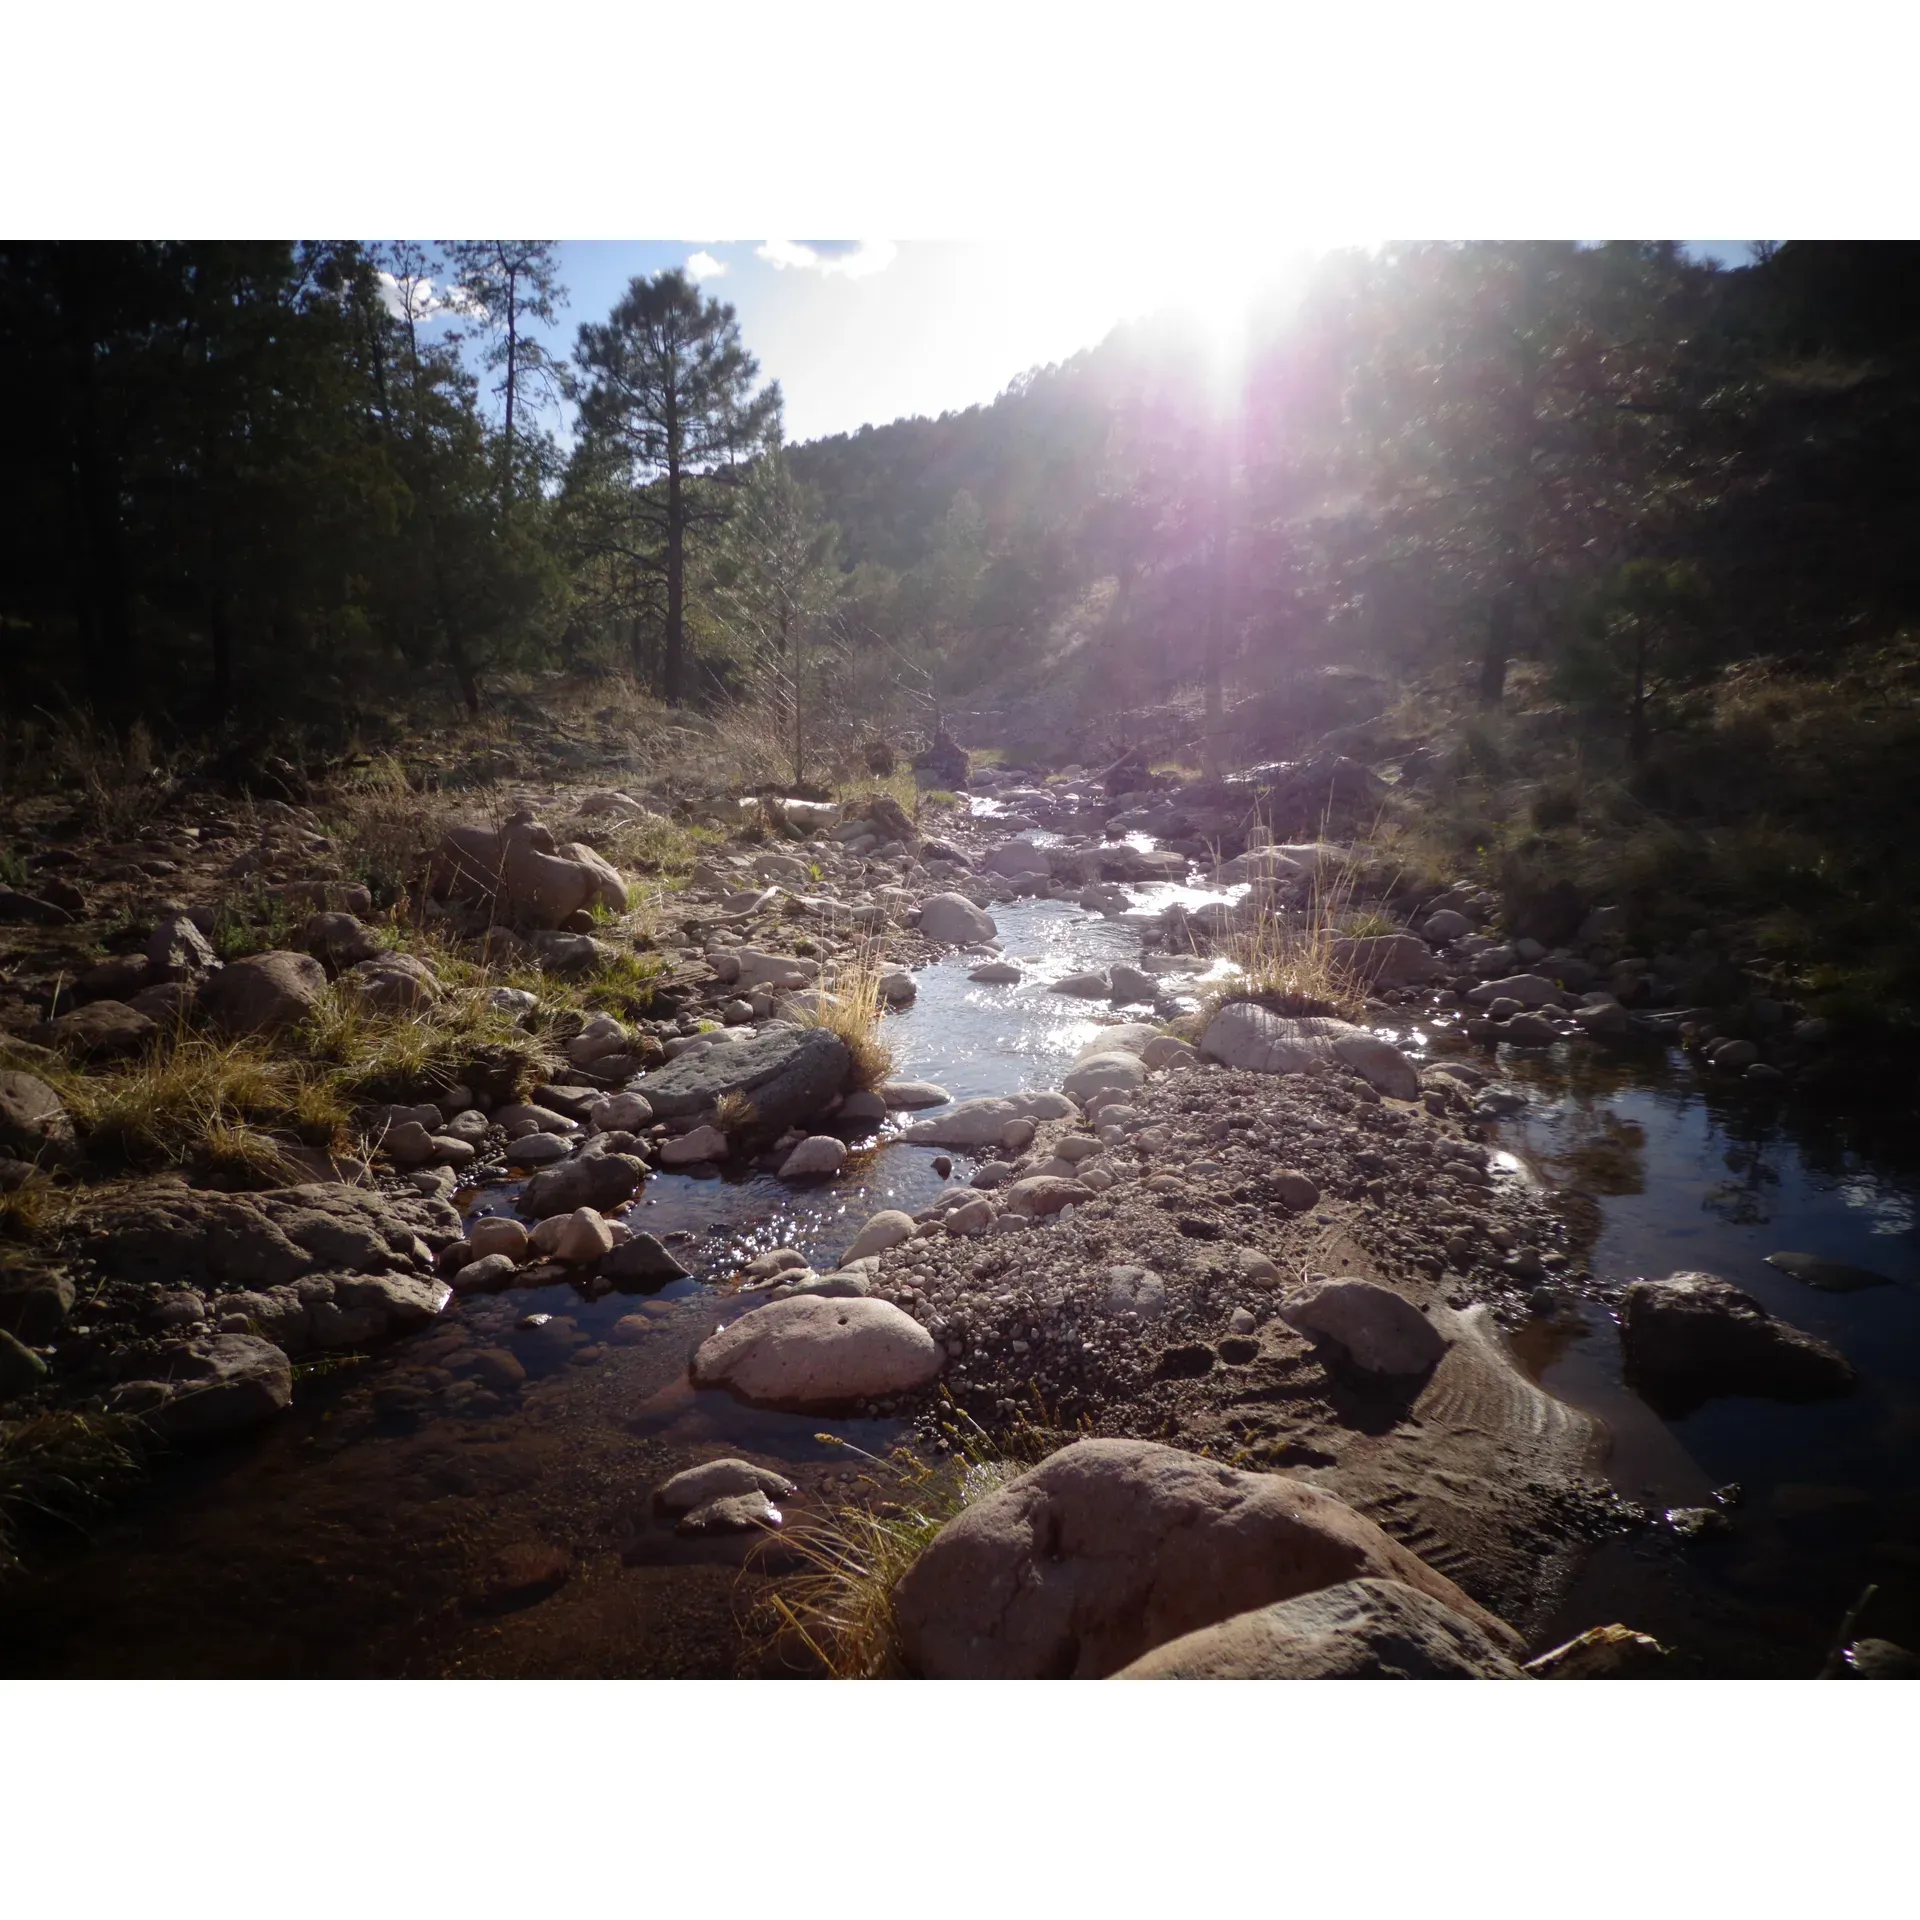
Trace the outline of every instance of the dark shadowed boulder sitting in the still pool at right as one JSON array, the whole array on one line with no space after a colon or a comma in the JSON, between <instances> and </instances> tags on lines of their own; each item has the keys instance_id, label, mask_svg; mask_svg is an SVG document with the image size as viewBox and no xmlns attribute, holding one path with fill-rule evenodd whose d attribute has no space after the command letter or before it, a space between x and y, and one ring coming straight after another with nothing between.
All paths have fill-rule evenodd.
<instances>
[{"instance_id":1,"label":"dark shadowed boulder sitting in the still pool at right","mask_svg":"<svg viewBox=\"0 0 1920 1920\"><path fill-rule=\"evenodd\" d=\"M1634 1281L1622 1300L1620 1348L1628 1380L1674 1415L1720 1394L1822 1400L1857 1379L1824 1340L1774 1319L1713 1273Z\"/></svg>"}]
</instances>

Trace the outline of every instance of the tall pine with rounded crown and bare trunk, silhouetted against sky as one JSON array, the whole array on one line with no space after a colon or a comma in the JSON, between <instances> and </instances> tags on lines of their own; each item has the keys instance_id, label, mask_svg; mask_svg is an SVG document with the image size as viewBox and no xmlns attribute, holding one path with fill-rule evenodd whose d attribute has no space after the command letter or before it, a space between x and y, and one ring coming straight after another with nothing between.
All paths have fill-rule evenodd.
<instances>
[{"instance_id":1,"label":"tall pine with rounded crown and bare trunk, silhouetted against sky","mask_svg":"<svg viewBox=\"0 0 1920 1920\"><path fill-rule=\"evenodd\" d=\"M636 509L660 536L666 626L660 693L685 695L687 534L726 518L716 480L780 424L780 386L758 394L760 363L739 344L733 309L703 300L678 269L636 278L603 326L574 348L582 428L636 488Z\"/></svg>"}]
</instances>

